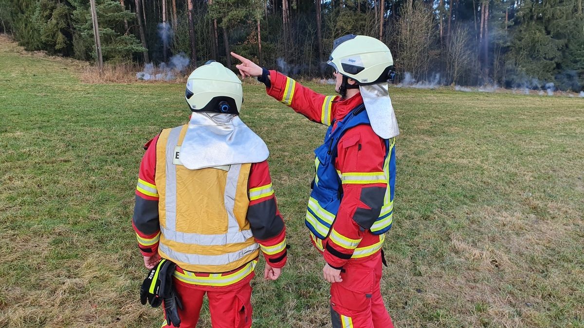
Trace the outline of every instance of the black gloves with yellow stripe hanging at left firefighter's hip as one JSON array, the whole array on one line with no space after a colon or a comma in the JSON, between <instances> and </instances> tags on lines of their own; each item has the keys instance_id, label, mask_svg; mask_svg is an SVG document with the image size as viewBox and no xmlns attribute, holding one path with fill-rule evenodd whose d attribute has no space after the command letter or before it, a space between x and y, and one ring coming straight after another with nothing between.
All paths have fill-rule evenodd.
<instances>
[{"instance_id":1,"label":"black gloves with yellow stripe hanging at left firefighter's hip","mask_svg":"<svg viewBox=\"0 0 584 328\"><path fill-rule=\"evenodd\" d=\"M162 259L157 266L152 268L144 282L142 282L140 302L145 305L146 301L148 301L152 308L158 308L164 301L166 323L180 327L177 307L182 310L183 306L175 287L172 285L172 273L175 268L176 264L166 259Z\"/></svg>"}]
</instances>

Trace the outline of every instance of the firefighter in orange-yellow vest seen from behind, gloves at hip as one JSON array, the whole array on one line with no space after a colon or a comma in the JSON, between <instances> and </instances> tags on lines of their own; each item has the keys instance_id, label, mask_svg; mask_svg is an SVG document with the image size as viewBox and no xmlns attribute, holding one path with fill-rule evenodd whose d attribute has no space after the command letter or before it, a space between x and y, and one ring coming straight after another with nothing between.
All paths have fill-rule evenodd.
<instances>
[{"instance_id":1,"label":"firefighter in orange-yellow vest seen from behind, gloves at hip","mask_svg":"<svg viewBox=\"0 0 584 328\"><path fill-rule=\"evenodd\" d=\"M195 69L185 98L189 123L149 141L140 165L132 224L152 269L142 303L164 299L162 327L196 327L207 294L213 327L251 327L260 252L266 280L286 264L269 152L239 118L241 81L220 63Z\"/></svg>"}]
</instances>

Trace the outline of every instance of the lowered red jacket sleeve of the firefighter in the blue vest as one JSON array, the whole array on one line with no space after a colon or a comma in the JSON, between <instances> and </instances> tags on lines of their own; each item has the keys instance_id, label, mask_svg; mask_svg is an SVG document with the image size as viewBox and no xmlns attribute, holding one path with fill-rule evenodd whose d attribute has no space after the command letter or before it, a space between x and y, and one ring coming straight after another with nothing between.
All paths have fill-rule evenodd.
<instances>
[{"instance_id":1,"label":"lowered red jacket sleeve of the firefighter in the blue vest","mask_svg":"<svg viewBox=\"0 0 584 328\"><path fill-rule=\"evenodd\" d=\"M351 128L339 141L336 168L343 198L324 250L331 267L339 269L353 256L379 217L387 189L384 158L385 143L369 125Z\"/></svg>"}]
</instances>

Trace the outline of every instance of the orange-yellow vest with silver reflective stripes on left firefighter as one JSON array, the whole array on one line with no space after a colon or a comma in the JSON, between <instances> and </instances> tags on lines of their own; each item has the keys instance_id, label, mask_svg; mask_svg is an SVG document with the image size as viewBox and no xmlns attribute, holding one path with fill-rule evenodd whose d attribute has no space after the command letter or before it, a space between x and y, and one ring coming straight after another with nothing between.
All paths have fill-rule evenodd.
<instances>
[{"instance_id":1,"label":"orange-yellow vest with silver reflective stripes on left firefighter","mask_svg":"<svg viewBox=\"0 0 584 328\"><path fill-rule=\"evenodd\" d=\"M251 164L185 168L178 155L187 127L162 130L156 145L159 253L188 271L231 271L259 255L246 219Z\"/></svg>"}]
</instances>

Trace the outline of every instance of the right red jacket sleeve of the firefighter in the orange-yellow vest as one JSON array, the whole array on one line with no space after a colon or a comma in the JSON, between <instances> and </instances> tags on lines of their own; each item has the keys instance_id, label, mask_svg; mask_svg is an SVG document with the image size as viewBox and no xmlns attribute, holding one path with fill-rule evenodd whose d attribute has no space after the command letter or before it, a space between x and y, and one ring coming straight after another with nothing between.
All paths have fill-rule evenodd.
<instances>
[{"instance_id":1,"label":"right red jacket sleeve of the firefighter in the orange-yellow vest","mask_svg":"<svg viewBox=\"0 0 584 328\"><path fill-rule=\"evenodd\" d=\"M267 161L253 163L248 181L248 221L266 262L274 268L286 264L286 227L278 210Z\"/></svg>"}]
</instances>

